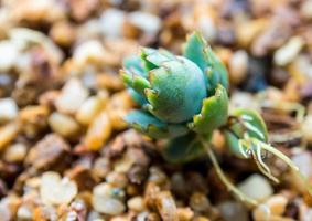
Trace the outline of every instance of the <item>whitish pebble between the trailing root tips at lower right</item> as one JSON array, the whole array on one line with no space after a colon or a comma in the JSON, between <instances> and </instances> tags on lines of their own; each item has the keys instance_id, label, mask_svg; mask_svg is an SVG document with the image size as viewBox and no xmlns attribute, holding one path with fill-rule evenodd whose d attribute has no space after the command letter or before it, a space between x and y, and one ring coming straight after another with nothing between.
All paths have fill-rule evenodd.
<instances>
[{"instance_id":1,"label":"whitish pebble between the trailing root tips at lower right","mask_svg":"<svg viewBox=\"0 0 312 221\"><path fill-rule=\"evenodd\" d=\"M273 193L270 182L260 175L251 175L240 182L238 188L241 192L258 201L266 200Z\"/></svg>"}]
</instances>

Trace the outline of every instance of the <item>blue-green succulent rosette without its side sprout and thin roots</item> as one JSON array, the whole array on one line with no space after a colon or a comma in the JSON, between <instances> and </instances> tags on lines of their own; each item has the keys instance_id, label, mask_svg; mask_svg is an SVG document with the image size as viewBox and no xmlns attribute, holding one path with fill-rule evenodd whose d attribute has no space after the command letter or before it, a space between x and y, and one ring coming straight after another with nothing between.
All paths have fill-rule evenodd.
<instances>
[{"instance_id":1,"label":"blue-green succulent rosette without its side sprout and thin roots","mask_svg":"<svg viewBox=\"0 0 312 221\"><path fill-rule=\"evenodd\" d=\"M126 122L151 138L170 138L163 150L170 161L198 157L203 148L195 137L208 139L227 120L226 69L197 32L187 36L181 56L141 49L125 61L121 75L140 106Z\"/></svg>"}]
</instances>

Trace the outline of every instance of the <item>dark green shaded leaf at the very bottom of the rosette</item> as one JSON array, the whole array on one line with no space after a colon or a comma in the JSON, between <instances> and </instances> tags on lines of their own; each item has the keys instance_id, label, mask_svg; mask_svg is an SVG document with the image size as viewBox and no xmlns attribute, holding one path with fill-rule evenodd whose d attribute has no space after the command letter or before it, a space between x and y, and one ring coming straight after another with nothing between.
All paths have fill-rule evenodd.
<instances>
[{"instance_id":1,"label":"dark green shaded leaf at the very bottom of the rosette","mask_svg":"<svg viewBox=\"0 0 312 221\"><path fill-rule=\"evenodd\" d=\"M204 156L205 148L194 133L171 139L162 149L164 159L173 164L192 161Z\"/></svg>"}]
</instances>

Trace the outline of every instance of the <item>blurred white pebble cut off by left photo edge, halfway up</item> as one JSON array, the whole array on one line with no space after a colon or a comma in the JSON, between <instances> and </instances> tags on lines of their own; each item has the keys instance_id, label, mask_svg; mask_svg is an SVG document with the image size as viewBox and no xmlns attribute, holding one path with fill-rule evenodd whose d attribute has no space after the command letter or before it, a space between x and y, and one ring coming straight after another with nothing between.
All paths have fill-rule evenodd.
<instances>
[{"instance_id":1,"label":"blurred white pebble cut off by left photo edge, halfway up","mask_svg":"<svg viewBox=\"0 0 312 221\"><path fill-rule=\"evenodd\" d=\"M0 124L14 119L18 116L18 112L19 108L14 99L12 98L0 99Z\"/></svg>"}]
</instances>

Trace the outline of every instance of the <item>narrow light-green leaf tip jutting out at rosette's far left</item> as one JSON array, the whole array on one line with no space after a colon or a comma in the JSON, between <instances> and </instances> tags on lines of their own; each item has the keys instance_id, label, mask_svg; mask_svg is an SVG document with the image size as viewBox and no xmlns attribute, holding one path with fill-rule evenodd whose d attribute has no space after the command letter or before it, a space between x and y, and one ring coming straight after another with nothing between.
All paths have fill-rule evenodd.
<instances>
[{"instance_id":1,"label":"narrow light-green leaf tip jutting out at rosette's far left","mask_svg":"<svg viewBox=\"0 0 312 221\"><path fill-rule=\"evenodd\" d=\"M125 84L127 84L128 87L133 88L136 92L138 92L141 95L144 95L146 88L151 87L150 82L141 75L131 73L127 70L121 70L120 73Z\"/></svg>"}]
</instances>

